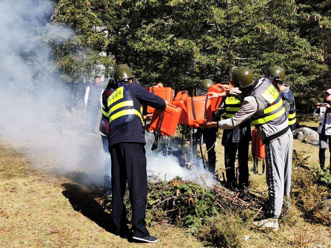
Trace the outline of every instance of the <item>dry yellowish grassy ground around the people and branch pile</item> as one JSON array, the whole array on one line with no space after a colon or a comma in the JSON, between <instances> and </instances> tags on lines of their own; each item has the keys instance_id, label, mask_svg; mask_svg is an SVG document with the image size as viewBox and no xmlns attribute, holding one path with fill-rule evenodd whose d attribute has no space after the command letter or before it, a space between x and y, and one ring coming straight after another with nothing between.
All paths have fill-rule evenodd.
<instances>
[{"instance_id":1,"label":"dry yellowish grassy ground around the people and branch pile","mask_svg":"<svg viewBox=\"0 0 331 248\"><path fill-rule=\"evenodd\" d=\"M300 120L301 126L317 126L309 118ZM216 169L224 171L224 151L217 142ZM309 156L310 166L317 166L318 147L295 140L294 149ZM53 156L49 154L49 159ZM168 224L149 227L159 238L155 244L113 236L110 213L102 207L102 188L88 180L94 176L76 168L62 174L46 172L41 158L18 152L8 140L0 141L0 247L209 247L184 228ZM250 171L250 188L266 191L265 176ZM330 227L307 222L295 207L280 224L278 232L245 226L242 235L249 238L242 247L293 247L300 243L298 233L301 241L308 240L306 247L331 247Z\"/></svg>"}]
</instances>

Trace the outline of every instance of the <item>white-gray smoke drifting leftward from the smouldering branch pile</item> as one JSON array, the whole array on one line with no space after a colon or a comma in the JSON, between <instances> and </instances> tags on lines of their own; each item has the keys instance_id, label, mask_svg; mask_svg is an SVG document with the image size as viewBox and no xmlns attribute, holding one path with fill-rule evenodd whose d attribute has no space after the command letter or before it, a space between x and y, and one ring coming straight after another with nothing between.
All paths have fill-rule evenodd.
<instances>
[{"instance_id":1,"label":"white-gray smoke drifting leftward from the smouldering branch pile","mask_svg":"<svg viewBox=\"0 0 331 248\"><path fill-rule=\"evenodd\" d=\"M35 166L68 173L87 171L103 185L100 135L84 134L86 111L79 103L68 111L68 88L53 60L52 43L63 43L74 32L50 20L53 3L45 0L0 2L0 135L1 139L36 159ZM69 96L70 98L70 96ZM99 120L100 120L99 114ZM98 123L98 122L97 122ZM150 175L170 180L180 176L201 184L214 181L201 166L189 171L175 157L152 152L146 145ZM203 177L201 175L204 175Z\"/></svg>"}]
</instances>

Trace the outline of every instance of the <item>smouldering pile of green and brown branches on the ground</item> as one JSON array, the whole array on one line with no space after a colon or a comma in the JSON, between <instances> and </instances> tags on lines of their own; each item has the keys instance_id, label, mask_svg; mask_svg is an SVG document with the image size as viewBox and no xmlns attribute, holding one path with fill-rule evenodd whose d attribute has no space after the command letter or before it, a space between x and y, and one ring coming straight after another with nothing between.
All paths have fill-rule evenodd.
<instances>
[{"instance_id":1,"label":"smouldering pile of green and brown branches on the ground","mask_svg":"<svg viewBox=\"0 0 331 248\"><path fill-rule=\"evenodd\" d=\"M256 197L257 198L257 197ZM170 182L157 181L148 183L146 222L171 223L180 227L192 227L203 220L219 213L242 213L259 211L261 197L254 199L251 194L233 192L221 185L213 187L201 186L195 182L175 178ZM129 197L124 197L130 209ZM110 202L106 208L110 210ZM131 215L130 211L128 214ZM131 216L128 216L130 219Z\"/></svg>"}]
</instances>

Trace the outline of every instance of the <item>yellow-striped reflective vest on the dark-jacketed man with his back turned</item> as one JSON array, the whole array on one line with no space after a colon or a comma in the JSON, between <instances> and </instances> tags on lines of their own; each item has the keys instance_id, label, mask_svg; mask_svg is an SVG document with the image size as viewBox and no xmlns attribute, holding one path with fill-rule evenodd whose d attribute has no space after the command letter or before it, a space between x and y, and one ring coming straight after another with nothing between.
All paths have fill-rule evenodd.
<instances>
[{"instance_id":1,"label":"yellow-striped reflective vest on the dark-jacketed man with his back turned","mask_svg":"<svg viewBox=\"0 0 331 248\"><path fill-rule=\"evenodd\" d=\"M138 116L143 121L140 106L133 103L129 84L118 83L118 88L108 98L109 129L132 121Z\"/></svg>"}]
</instances>

